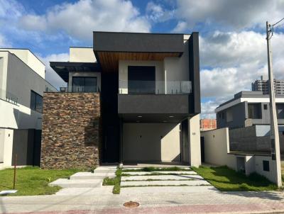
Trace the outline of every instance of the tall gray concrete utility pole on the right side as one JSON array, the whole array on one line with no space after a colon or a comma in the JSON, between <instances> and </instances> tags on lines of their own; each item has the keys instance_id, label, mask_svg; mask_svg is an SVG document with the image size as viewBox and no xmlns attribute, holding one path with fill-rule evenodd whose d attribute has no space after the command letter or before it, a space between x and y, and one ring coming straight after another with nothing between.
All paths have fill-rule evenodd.
<instances>
[{"instance_id":1,"label":"tall gray concrete utility pole on the right side","mask_svg":"<svg viewBox=\"0 0 284 214\"><path fill-rule=\"evenodd\" d=\"M282 186L281 180L281 162L280 162L280 146L279 146L279 133L278 121L276 115L275 93L274 93L274 78L272 69L272 51L271 51L271 38L272 26L266 21L266 41L267 41L267 58L268 58L268 82L269 82L269 98L270 98L270 111L271 111L271 159L273 164L273 174L275 184L278 187Z\"/></svg>"}]
</instances>

